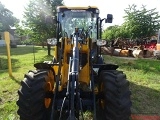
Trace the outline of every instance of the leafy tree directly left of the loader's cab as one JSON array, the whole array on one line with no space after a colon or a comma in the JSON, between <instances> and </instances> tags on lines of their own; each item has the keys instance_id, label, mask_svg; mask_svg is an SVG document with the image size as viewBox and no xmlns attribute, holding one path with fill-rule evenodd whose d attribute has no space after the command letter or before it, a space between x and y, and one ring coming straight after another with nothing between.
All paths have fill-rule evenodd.
<instances>
[{"instance_id":1,"label":"leafy tree directly left of the loader's cab","mask_svg":"<svg viewBox=\"0 0 160 120\"><path fill-rule=\"evenodd\" d=\"M56 16L56 6L62 5L62 0L31 0L25 8L25 27L28 27L30 37L36 42L44 43L47 38L55 37L56 23L53 22ZM52 24L48 18L52 17Z\"/></svg>"}]
</instances>

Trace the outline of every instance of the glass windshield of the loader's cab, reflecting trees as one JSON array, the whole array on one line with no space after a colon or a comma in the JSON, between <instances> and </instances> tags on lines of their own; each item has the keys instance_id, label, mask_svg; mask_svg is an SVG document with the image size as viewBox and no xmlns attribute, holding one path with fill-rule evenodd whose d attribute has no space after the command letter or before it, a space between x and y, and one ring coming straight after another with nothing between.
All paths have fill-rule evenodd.
<instances>
[{"instance_id":1,"label":"glass windshield of the loader's cab, reflecting trees","mask_svg":"<svg viewBox=\"0 0 160 120\"><path fill-rule=\"evenodd\" d=\"M97 38L97 15L86 10L71 10L59 13L59 22L61 23L62 36L70 36L74 33L75 28L83 29L90 32L92 39ZM91 28L91 29L90 29Z\"/></svg>"}]
</instances>

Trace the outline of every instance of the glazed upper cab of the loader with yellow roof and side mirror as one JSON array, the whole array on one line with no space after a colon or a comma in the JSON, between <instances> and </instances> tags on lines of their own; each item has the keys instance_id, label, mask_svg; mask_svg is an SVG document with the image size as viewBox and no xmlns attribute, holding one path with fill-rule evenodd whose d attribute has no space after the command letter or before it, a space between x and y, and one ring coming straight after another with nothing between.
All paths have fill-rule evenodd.
<instances>
[{"instance_id":1,"label":"glazed upper cab of the loader with yellow roof and side mirror","mask_svg":"<svg viewBox=\"0 0 160 120\"><path fill-rule=\"evenodd\" d=\"M112 15L108 14L105 22L112 22ZM84 38L92 40L100 39L102 20L99 17L99 9L95 6L88 7L57 7L58 35L71 38L75 28L81 30ZM81 35L82 35L81 34Z\"/></svg>"}]
</instances>

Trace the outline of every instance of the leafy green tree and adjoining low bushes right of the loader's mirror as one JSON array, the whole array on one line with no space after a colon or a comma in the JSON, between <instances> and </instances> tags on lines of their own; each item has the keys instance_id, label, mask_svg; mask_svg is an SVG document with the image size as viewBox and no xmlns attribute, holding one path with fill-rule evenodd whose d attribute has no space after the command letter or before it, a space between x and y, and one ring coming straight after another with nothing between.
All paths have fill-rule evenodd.
<instances>
[{"instance_id":1,"label":"leafy green tree and adjoining low bushes right of the loader's mirror","mask_svg":"<svg viewBox=\"0 0 160 120\"><path fill-rule=\"evenodd\" d=\"M147 10L146 6L142 5L138 10L136 5L129 5L124 11L125 22L121 26L111 26L107 28L103 37L106 39L115 38L147 38L155 35L160 29L160 16L155 12L156 8Z\"/></svg>"}]
</instances>

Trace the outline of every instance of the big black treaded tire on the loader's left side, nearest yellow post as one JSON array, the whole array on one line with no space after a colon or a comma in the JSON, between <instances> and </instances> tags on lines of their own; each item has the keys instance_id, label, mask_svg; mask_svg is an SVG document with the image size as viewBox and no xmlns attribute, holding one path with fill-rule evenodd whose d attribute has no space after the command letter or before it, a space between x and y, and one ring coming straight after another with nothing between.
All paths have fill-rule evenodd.
<instances>
[{"instance_id":1,"label":"big black treaded tire on the loader's left side, nearest yellow post","mask_svg":"<svg viewBox=\"0 0 160 120\"><path fill-rule=\"evenodd\" d=\"M48 70L29 71L28 74L25 74L24 80L21 82L21 88L18 90L19 100L17 105L19 109L17 113L20 116L20 120L49 119L52 99L50 106L46 108L46 85L48 79L53 78L53 76L49 76Z\"/></svg>"}]
</instances>

